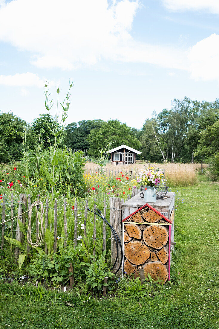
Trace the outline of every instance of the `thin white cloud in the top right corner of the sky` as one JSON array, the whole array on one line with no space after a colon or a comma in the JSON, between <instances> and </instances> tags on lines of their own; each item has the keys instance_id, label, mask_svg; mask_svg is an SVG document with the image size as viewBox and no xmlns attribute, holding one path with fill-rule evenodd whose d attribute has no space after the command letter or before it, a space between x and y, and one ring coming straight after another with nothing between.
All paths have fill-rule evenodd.
<instances>
[{"instance_id":1,"label":"thin white cloud in the top right corner of the sky","mask_svg":"<svg viewBox=\"0 0 219 329\"><path fill-rule=\"evenodd\" d=\"M219 14L218 0L161 0L164 6L171 11L182 10L207 10Z\"/></svg>"}]
</instances>

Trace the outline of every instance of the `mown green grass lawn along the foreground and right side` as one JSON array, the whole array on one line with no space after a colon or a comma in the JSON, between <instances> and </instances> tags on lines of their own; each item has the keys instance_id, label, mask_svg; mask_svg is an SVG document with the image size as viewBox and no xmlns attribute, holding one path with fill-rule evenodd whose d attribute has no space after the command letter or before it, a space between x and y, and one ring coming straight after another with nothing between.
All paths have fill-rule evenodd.
<instances>
[{"instance_id":1,"label":"mown green grass lawn along the foreground and right side","mask_svg":"<svg viewBox=\"0 0 219 329\"><path fill-rule=\"evenodd\" d=\"M176 192L176 281L152 296L128 300L117 294L82 302L74 292L55 295L0 285L0 328L219 328L219 184L199 176L199 185ZM179 272L179 275L178 275ZM69 300L74 307L66 306Z\"/></svg>"}]
</instances>

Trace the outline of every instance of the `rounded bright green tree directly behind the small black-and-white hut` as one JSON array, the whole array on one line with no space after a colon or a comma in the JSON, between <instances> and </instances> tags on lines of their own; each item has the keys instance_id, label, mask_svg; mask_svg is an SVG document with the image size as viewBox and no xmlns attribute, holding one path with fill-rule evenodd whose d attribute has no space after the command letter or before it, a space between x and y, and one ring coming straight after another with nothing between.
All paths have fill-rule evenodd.
<instances>
[{"instance_id":1,"label":"rounded bright green tree directly behind the small black-and-white hut","mask_svg":"<svg viewBox=\"0 0 219 329\"><path fill-rule=\"evenodd\" d=\"M141 149L140 141L134 136L132 129L125 123L113 119L104 122L101 127L91 130L88 136L90 144L89 155L99 157L99 149L106 147L109 140L113 142L113 148L125 144L137 150Z\"/></svg>"}]
</instances>

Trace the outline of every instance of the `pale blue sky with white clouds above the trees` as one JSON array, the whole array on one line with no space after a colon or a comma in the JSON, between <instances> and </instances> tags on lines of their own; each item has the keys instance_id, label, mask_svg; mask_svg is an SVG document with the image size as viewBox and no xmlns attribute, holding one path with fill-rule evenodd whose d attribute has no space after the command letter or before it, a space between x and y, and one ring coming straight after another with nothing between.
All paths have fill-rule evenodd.
<instances>
[{"instance_id":1,"label":"pale blue sky with white clouds above the trees","mask_svg":"<svg viewBox=\"0 0 219 329\"><path fill-rule=\"evenodd\" d=\"M74 81L67 123L140 129L174 98L214 101L218 18L218 0L0 0L0 111L47 113L46 80L52 115Z\"/></svg>"}]
</instances>

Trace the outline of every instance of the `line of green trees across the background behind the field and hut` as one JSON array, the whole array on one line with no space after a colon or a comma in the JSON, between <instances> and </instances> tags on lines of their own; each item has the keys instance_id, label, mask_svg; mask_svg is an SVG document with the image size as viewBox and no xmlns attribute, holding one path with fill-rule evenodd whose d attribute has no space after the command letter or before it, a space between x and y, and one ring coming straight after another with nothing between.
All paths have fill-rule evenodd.
<instances>
[{"instance_id":1,"label":"line of green trees across the background behind the field and hut","mask_svg":"<svg viewBox=\"0 0 219 329\"><path fill-rule=\"evenodd\" d=\"M49 147L54 136L48 126L55 120L49 114L40 114L31 125L12 113L0 113L0 159L9 162L22 155L22 140L30 148L39 134L43 147ZM82 120L66 125L61 147L84 150L90 157L99 156L99 148L109 140L113 147L129 145L148 161L194 162L208 161L219 152L219 99L199 102L185 97L174 99L170 109L155 112L142 122L142 129L128 127L113 119Z\"/></svg>"}]
</instances>

